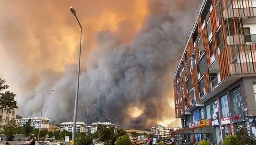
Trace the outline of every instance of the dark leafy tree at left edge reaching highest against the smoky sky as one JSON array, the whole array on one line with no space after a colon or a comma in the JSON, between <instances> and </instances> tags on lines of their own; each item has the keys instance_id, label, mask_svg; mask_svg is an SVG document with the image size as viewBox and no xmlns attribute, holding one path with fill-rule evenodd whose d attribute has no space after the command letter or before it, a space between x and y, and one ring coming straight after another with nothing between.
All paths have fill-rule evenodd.
<instances>
[{"instance_id":1,"label":"dark leafy tree at left edge reaching highest against the smoky sky","mask_svg":"<svg viewBox=\"0 0 256 145\"><path fill-rule=\"evenodd\" d=\"M5 82L5 79L0 77L0 109L12 111L18 108L17 101L14 99L16 94L6 90L9 86ZM2 116L0 116L0 119L2 119Z\"/></svg>"}]
</instances>

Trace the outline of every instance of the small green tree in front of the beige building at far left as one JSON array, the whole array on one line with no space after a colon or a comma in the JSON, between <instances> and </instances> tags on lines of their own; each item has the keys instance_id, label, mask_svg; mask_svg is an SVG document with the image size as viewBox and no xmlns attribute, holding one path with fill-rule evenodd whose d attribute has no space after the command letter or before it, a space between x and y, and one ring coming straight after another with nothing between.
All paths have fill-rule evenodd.
<instances>
[{"instance_id":1,"label":"small green tree in front of the beige building at far left","mask_svg":"<svg viewBox=\"0 0 256 145\"><path fill-rule=\"evenodd\" d=\"M7 140L10 140L15 135L17 127L18 125L14 119L9 121L7 125L3 125L3 133L7 136Z\"/></svg>"}]
</instances>

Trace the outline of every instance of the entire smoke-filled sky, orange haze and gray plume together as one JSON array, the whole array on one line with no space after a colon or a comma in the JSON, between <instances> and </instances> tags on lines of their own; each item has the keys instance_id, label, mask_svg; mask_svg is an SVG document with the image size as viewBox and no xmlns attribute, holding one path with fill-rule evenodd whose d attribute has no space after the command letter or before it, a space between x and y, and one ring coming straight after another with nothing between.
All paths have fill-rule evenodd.
<instances>
[{"instance_id":1,"label":"entire smoke-filled sky, orange haze and gray plume together","mask_svg":"<svg viewBox=\"0 0 256 145\"><path fill-rule=\"evenodd\" d=\"M172 78L199 2L8 3L7 8L14 9L0 15L4 20L0 22L0 75L11 80L9 85L18 91L20 114L39 116L42 97L31 90L54 88L45 95L43 116L55 123L72 121L79 29L66 11L73 5L82 13L78 16L86 35L79 104L96 104L89 110L88 123L95 121L95 116L104 121L101 111L112 112L108 118L119 118L137 128L156 123L179 125L174 119ZM25 9L20 9L22 6ZM85 108L78 108L78 121L85 121L85 113Z\"/></svg>"}]
</instances>

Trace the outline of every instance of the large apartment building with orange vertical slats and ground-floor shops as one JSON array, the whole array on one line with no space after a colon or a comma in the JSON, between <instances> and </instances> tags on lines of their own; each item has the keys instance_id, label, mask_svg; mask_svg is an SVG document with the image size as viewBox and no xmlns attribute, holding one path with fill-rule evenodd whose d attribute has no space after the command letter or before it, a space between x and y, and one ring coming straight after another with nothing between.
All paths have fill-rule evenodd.
<instances>
[{"instance_id":1,"label":"large apartment building with orange vertical slats and ground-floor shops","mask_svg":"<svg viewBox=\"0 0 256 145\"><path fill-rule=\"evenodd\" d=\"M248 135L256 114L256 0L203 0L174 76L176 118L187 142Z\"/></svg>"}]
</instances>

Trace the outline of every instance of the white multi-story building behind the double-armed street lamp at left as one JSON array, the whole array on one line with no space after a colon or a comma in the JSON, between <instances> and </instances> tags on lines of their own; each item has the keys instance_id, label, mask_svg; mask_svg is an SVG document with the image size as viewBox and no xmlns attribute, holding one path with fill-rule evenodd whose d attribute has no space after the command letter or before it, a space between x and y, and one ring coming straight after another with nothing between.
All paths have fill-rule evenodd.
<instances>
[{"instance_id":1,"label":"white multi-story building behind the double-armed street lamp at left","mask_svg":"<svg viewBox=\"0 0 256 145\"><path fill-rule=\"evenodd\" d=\"M47 117L42 117L41 120L40 120L40 117L22 118L22 119L19 119L17 122L18 122L18 124L19 124L20 126L23 126L24 124L26 124L26 121L28 121L29 119L31 119L31 126L32 126L34 129L39 129L40 122L41 122L41 129L46 129L46 130L48 130L50 119L47 118Z\"/></svg>"}]
</instances>

